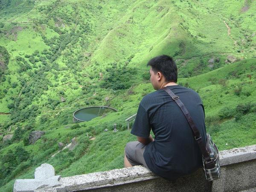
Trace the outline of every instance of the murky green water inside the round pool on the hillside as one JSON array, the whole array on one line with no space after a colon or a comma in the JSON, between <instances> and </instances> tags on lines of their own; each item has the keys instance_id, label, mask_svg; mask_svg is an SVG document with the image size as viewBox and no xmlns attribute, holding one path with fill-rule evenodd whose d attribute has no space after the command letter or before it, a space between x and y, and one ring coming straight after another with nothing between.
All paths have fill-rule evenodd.
<instances>
[{"instance_id":1,"label":"murky green water inside the round pool on the hillside","mask_svg":"<svg viewBox=\"0 0 256 192\"><path fill-rule=\"evenodd\" d=\"M91 119L102 116L105 113L113 111L110 108L105 107L92 107L92 108L84 108L74 113L76 119L81 121L90 121Z\"/></svg>"}]
</instances>

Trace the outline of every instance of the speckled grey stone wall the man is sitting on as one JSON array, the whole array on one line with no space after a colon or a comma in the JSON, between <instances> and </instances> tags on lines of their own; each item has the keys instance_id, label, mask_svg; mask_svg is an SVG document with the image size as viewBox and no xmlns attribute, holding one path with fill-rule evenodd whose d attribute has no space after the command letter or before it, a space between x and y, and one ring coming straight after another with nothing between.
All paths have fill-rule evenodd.
<instances>
[{"instance_id":1,"label":"speckled grey stone wall the man is sitting on","mask_svg":"<svg viewBox=\"0 0 256 192\"><path fill-rule=\"evenodd\" d=\"M24 187L20 188L21 186L26 186L27 181L31 184L31 180L16 180L14 192L256 191L256 145L220 151L220 163L221 179L213 182L205 180L202 169L199 169L192 175L180 177L170 182L154 175L144 166L134 166L63 178L51 175L55 181L49 182L50 179L46 178L47 182L41 182L41 186L38 186L37 183L34 190L31 190L31 187L29 190L25 190ZM45 166L45 164L43 165ZM45 175L45 172L43 171L42 174ZM38 171L35 177L38 177Z\"/></svg>"}]
</instances>

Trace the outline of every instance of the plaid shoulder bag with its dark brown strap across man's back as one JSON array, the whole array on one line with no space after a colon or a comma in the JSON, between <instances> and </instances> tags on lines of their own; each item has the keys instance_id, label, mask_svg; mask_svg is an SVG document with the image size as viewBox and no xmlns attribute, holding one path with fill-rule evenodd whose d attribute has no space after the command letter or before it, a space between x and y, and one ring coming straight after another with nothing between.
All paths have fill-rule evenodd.
<instances>
[{"instance_id":1,"label":"plaid shoulder bag with its dark brown strap across man's back","mask_svg":"<svg viewBox=\"0 0 256 192\"><path fill-rule=\"evenodd\" d=\"M184 116L186 117L189 126L194 134L195 140L198 143L198 146L202 152L202 159L203 159L203 169L204 169L204 175L208 181L212 181L215 179L220 178L220 163L219 163L219 153L218 148L213 143L212 138L209 134L206 134L206 145L204 145L203 139L200 135L200 132L198 131L198 128L195 126L195 123L183 104L183 102L180 101L179 96L176 96L172 90L170 90L167 87L163 87L163 90L165 90L172 99L177 103L177 105L180 107L181 111L183 112Z\"/></svg>"}]
</instances>

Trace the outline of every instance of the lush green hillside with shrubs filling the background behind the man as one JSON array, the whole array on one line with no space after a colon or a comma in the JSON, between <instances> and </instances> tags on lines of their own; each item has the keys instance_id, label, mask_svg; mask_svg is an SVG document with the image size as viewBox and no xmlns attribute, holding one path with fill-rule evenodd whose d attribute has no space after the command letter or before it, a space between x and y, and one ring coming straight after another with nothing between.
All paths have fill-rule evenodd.
<instances>
[{"instance_id":1,"label":"lush green hillside with shrubs filling the background behind the man","mask_svg":"<svg viewBox=\"0 0 256 192\"><path fill-rule=\"evenodd\" d=\"M0 0L0 191L42 163L62 177L121 168L136 139L125 119L154 91L146 64L156 55L174 57L178 84L199 93L220 150L256 144L255 9L253 0ZM96 105L118 112L73 122ZM35 130L45 134L29 144ZM73 150L51 157L73 137Z\"/></svg>"}]
</instances>

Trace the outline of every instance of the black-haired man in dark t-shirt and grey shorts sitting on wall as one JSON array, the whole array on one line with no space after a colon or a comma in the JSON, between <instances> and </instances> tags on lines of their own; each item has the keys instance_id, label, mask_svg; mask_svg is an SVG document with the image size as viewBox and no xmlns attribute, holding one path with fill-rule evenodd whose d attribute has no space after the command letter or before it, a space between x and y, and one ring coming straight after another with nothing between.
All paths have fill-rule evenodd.
<instances>
[{"instance_id":1,"label":"black-haired man in dark t-shirt and grey shorts sitting on wall","mask_svg":"<svg viewBox=\"0 0 256 192\"><path fill-rule=\"evenodd\" d=\"M162 88L168 87L180 97L205 143L204 106L198 93L176 84L177 66L171 57L160 55L147 65L156 91L140 102L131 130L137 141L125 146L124 165L144 165L155 174L173 180L201 167L202 154L183 112Z\"/></svg>"}]
</instances>

